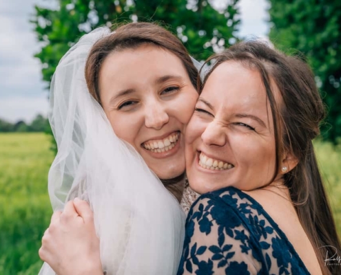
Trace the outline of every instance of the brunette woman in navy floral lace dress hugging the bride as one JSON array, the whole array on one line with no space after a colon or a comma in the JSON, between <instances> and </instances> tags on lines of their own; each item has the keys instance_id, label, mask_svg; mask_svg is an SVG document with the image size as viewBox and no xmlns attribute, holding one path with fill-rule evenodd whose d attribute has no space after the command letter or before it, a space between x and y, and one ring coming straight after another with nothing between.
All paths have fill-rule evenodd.
<instances>
[{"instance_id":1,"label":"brunette woman in navy floral lace dress hugging the bride","mask_svg":"<svg viewBox=\"0 0 341 275\"><path fill-rule=\"evenodd\" d=\"M178 274L341 274L313 149L324 104L308 65L257 41L210 61L186 131L187 177L203 195Z\"/></svg>"}]
</instances>

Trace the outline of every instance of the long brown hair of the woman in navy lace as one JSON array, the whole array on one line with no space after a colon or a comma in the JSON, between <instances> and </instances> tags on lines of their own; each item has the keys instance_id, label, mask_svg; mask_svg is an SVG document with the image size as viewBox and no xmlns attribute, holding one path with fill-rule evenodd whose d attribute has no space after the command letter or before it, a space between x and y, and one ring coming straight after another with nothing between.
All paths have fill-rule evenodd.
<instances>
[{"instance_id":1,"label":"long brown hair of the woman in navy lace","mask_svg":"<svg viewBox=\"0 0 341 275\"><path fill-rule=\"evenodd\" d=\"M199 91L202 91L209 74L225 61L237 61L260 73L275 129L276 170L273 179L278 173L282 153L289 152L298 159L297 166L283 175L285 186L289 188L322 273L341 274L340 266L325 267L323 261L327 252L330 256L335 254L329 245L338 251L341 251L341 245L313 149L312 140L319 134L325 112L311 69L296 56L286 56L260 41L247 41L209 58L207 62L214 64ZM282 96L279 105L273 96L270 80L276 83Z\"/></svg>"}]
</instances>

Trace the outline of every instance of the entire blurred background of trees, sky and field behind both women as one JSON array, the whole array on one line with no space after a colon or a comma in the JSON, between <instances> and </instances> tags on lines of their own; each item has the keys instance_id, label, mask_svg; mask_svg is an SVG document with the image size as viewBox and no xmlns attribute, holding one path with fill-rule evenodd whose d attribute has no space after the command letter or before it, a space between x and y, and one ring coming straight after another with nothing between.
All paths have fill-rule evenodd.
<instances>
[{"instance_id":1,"label":"entire blurred background of trees, sky and field behind both women","mask_svg":"<svg viewBox=\"0 0 341 275\"><path fill-rule=\"evenodd\" d=\"M328 109L314 145L341 233L341 1L0 0L0 274L37 274L42 264L59 59L99 25L129 21L163 23L200 61L254 37L305 56Z\"/></svg>"}]
</instances>

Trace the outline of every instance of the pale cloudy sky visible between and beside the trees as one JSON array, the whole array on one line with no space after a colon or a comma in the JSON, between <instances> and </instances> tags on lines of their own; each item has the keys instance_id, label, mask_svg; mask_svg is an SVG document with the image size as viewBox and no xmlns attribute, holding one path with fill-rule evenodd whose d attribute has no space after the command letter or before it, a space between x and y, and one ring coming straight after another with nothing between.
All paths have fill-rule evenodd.
<instances>
[{"instance_id":1,"label":"pale cloudy sky visible between and beside the trees","mask_svg":"<svg viewBox=\"0 0 341 275\"><path fill-rule=\"evenodd\" d=\"M40 45L30 17L34 4L47 0L0 0L0 118L30 122L48 113L48 90L41 76L41 63L34 54ZM223 2L225 0L218 0ZM266 0L240 0L238 36L267 38Z\"/></svg>"}]
</instances>

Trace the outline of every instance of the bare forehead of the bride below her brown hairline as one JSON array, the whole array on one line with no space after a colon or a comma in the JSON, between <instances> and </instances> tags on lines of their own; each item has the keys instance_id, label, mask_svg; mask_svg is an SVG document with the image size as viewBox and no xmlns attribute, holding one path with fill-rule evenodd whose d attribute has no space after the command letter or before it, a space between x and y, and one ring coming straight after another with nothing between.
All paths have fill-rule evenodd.
<instances>
[{"instance_id":1,"label":"bare forehead of the bride below her brown hairline","mask_svg":"<svg viewBox=\"0 0 341 275\"><path fill-rule=\"evenodd\" d=\"M178 56L156 45L143 44L134 49L112 52L105 58L100 71L102 80L150 78L158 74L187 74Z\"/></svg>"}]
</instances>

